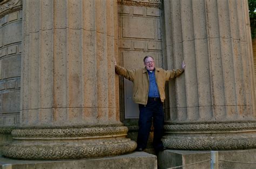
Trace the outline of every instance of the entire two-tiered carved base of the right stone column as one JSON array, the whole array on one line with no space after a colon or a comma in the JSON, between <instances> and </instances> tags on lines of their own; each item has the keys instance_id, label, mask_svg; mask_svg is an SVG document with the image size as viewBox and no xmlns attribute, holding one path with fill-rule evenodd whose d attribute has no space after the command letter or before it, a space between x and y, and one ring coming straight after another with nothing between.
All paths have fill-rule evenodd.
<instances>
[{"instance_id":1,"label":"entire two-tiered carved base of the right stone column","mask_svg":"<svg viewBox=\"0 0 256 169\"><path fill-rule=\"evenodd\" d=\"M179 150L237 150L256 148L256 123L165 125L163 143Z\"/></svg>"}]
</instances>

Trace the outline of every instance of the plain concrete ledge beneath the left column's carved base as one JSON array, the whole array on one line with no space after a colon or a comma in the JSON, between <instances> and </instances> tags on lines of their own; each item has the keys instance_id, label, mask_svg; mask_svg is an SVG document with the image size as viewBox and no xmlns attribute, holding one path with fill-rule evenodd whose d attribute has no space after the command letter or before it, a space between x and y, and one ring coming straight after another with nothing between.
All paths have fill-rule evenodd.
<instances>
[{"instance_id":1,"label":"plain concrete ledge beneath the left column's carved base","mask_svg":"<svg viewBox=\"0 0 256 169\"><path fill-rule=\"evenodd\" d=\"M157 157L146 152L78 160L14 160L0 157L0 168L157 168Z\"/></svg>"}]
</instances>

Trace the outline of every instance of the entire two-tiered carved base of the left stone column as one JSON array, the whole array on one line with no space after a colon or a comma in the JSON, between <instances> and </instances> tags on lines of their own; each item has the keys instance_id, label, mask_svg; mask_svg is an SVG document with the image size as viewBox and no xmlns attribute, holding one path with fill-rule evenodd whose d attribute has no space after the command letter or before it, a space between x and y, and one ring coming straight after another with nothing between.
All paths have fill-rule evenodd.
<instances>
[{"instance_id":1,"label":"entire two-tiered carved base of the left stone column","mask_svg":"<svg viewBox=\"0 0 256 169\"><path fill-rule=\"evenodd\" d=\"M18 129L15 141L3 148L3 155L17 159L78 159L114 156L136 149L136 142L126 138L125 126Z\"/></svg>"}]
</instances>

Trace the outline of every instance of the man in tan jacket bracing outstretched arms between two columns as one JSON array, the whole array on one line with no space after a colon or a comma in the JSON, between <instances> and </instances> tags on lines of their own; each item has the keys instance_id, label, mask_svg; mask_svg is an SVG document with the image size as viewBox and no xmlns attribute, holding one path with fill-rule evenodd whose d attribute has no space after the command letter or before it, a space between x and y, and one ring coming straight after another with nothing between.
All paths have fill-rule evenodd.
<instances>
[{"instance_id":1,"label":"man in tan jacket bracing outstretched arms between two columns","mask_svg":"<svg viewBox=\"0 0 256 169\"><path fill-rule=\"evenodd\" d=\"M116 73L133 82L133 101L139 104L139 131L137 151L143 151L149 138L152 118L154 126L153 147L156 152L165 150L163 136L165 100L165 82L184 72L185 62L181 69L166 71L154 67L151 56L144 58L144 68L129 70L115 65Z\"/></svg>"}]
</instances>

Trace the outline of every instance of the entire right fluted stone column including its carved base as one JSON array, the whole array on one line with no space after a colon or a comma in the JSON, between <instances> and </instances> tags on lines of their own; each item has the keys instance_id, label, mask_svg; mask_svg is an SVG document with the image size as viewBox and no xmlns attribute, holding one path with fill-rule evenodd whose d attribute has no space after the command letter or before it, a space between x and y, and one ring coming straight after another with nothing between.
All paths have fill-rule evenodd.
<instances>
[{"instance_id":1,"label":"entire right fluted stone column including its carved base","mask_svg":"<svg viewBox=\"0 0 256 169\"><path fill-rule=\"evenodd\" d=\"M247 1L164 1L169 83L165 146L224 150L256 147L253 58ZM170 107L170 109L168 108Z\"/></svg>"}]
</instances>

